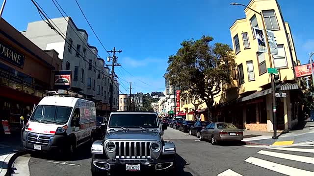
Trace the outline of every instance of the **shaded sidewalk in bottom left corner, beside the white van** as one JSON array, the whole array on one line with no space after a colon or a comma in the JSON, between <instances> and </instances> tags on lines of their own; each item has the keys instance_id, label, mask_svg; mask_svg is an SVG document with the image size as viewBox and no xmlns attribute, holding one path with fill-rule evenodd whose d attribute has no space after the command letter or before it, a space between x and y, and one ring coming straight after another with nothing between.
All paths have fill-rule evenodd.
<instances>
[{"instance_id":1,"label":"shaded sidewalk in bottom left corner, beside the white van","mask_svg":"<svg viewBox=\"0 0 314 176\"><path fill-rule=\"evenodd\" d=\"M0 135L0 176L5 176L19 152L24 151L21 133Z\"/></svg>"}]
</instances>

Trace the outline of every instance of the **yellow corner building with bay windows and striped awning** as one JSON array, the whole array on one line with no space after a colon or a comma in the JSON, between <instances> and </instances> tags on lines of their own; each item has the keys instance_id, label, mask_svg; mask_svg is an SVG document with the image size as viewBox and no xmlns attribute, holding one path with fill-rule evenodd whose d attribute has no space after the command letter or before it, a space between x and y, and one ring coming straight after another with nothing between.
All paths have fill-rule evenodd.
<instances>
[{"instance_id":1,"label":"yellow corner building with bay windows and striped awning","mask_svg":"<svg viewBox=\"0 0 314 176\"><path fill-rule=\"evenodd\" d=\"M277 129L290 129L302 118L299 115L302 93L292 69L298 62L290 27L284 22L276 0L251 0L247 7L245 18L236 20L230 27L236 63L232 71L234 82L223 85L214 98L213 117L242 129L272 131L271 78L267 68L276 67L281 90L287 93L286 98L277 100ZM252 9L262 12L262 16ZM271 55L270 59L267 53L257 52L257 37L253 33L253 27L263 29L262 18L278 44L278 55Z\"/></svg>"}]
</instances>

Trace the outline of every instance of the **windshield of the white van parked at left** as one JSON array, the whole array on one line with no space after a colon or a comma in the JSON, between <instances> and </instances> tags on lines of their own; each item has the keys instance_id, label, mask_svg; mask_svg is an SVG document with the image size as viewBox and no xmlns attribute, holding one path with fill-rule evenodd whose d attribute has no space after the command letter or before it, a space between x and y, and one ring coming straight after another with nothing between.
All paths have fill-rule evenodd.
<instances>
[{"instance_id":1,"label":"windshield of the white van parked at left","mask_svg":"<svg viewBox=\"0 0 314 176\"><path fill-rule=\"evenodd\" d=\"M71 107L38 105L29 120L31 122L61 125L68 122L71 111Z\"/></svg>"}]
</instances>

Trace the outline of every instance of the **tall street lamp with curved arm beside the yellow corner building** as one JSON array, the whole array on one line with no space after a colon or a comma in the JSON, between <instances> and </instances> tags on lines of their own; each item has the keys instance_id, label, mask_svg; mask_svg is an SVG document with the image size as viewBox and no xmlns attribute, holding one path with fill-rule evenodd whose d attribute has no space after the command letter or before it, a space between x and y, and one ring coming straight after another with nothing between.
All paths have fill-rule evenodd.
<instances>
[{"instance_id":1,"label":"tall street lamp with curved arm beside the yellow corner building","mask_svg":"<svg viewBox=\"0 0 314 176\"><path fill-rule=\"evenodd\" d=\"M262 15L262 12L258 12L246 5L243 5L243 4L239 4L239 3L236 3L236 2L231 2L230 5L241 5L243 7L246 7L250 10L252 10L253 12L259 14L262 18L262 24L263 24L263 31L265 33L265 43L267 45L267 50L268 50L268 58L269 58L269 64L270 64L270 68L272 68L272 61L271 61L271 56L270 56L270 47L269 47L269 43L268 43L268 37L267 37L267 31L266 31L266 27L265 27L265 22L264 22L264 18L263 18L263 15ZM272 95L273 95L273 130L274 130L274 135L273 135L273 139L276 139L278 138L277 137L277 127L276 127L276 94L275 94L275 83L274 83L274 74L271 74L271 91L272 91Z\"/></svg>"}]
</instances>

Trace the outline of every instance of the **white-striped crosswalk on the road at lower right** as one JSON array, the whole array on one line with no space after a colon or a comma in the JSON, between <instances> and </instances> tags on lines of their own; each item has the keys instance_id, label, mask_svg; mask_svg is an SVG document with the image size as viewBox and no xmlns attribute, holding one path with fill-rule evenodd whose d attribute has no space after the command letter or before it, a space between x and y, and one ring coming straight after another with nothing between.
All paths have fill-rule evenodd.
<instances>
[{"instance_id":1,"label":"white-striped crosswalk on the road at lower right","mask_svg":"<svg viewBox=\"0 0 314 176\"><path fill-rule=\"evenodd\" d=\"M257 152L254 156L248 157L245 162L252 164L252 166L258 166L259 168L266 169L270 172L276 172L288 176L314 176L314 145L303 145L304 148L294 148L294 147L276 147L276 148L265 148ZM298 155L295 152L298 152ZM289 154L290 153L290 154ZM265 159L266 158L266 159ZM276 158L280 158L278 160ZM285 162L286 161L286 162ZM299 165L291 164L293 162L300 163ZM302 163L302 164L301 164ZM304 167L304 164L306 167ZM310 164L310 165L309 165ZM288 166L289 165L289 166ZM297 168L301 166L302 169ZM293 167L291 167L293 166ZM254 172L254 167L251 167L251 172ZM228 169L217 176L246 176L238 171L236 168L234 170ZM257 169L257 168L256 168Z\"/></svg>"}]
</instances>

